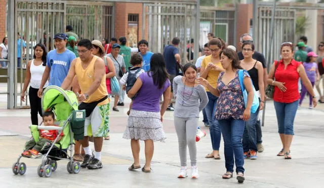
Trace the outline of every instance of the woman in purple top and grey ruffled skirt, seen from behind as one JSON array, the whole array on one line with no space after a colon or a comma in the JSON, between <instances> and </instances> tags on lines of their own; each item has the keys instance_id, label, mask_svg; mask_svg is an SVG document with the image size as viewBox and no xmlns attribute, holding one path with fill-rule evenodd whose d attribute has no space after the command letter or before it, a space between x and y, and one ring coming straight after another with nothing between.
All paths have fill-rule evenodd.
<instances>
[{"instance_id":1,"label":"woman in purple top and grey ruffled skirt, seen from behind","mask_svg":"<svg viewBox=\"0 0 324 188\"><path fill-rule=\"evenodd\" d=\"M127 96L133 101L128 119L128 126L123 138L131 139L134 163L129 170L141 168L140 165L140 143L145 141L145 165L143 172L151 171L151 160L153 157L153 141L164 141L166 135L163 131L163 115L170 102L171 83L166 69L163 55L155 53L151 57L150 70L143 72L135 82ZM163 94L164 101L160 108L159 101Z\"/></svg>"}]
</instances>

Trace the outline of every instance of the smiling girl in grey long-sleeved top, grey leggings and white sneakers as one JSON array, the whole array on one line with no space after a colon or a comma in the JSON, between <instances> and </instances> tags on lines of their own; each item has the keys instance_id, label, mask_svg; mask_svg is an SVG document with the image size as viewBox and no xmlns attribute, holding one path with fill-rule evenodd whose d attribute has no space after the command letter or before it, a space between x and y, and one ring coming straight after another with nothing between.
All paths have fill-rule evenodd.
<instances>
[{"instance_id":1,"label":"smiling girl in grey long-sleeved top, grey leggings and white sneakers","mask_svg":"<svg viewBox=\"0 0 324 188\"><path fill-rule=\"evenodd\" d=\"M176 96L174 111L174 125L178 135L179 155L181 162L179 178L187 177L187 145L191 161L191 178L198 178L196 166L196 132L199 112L208 103L205 88L196 80L197 68L191 63L183 67L184 76L177 76L173 80L173 92ZM200 102L199 102L200 101Z\"/></svg>"}]
</instances>

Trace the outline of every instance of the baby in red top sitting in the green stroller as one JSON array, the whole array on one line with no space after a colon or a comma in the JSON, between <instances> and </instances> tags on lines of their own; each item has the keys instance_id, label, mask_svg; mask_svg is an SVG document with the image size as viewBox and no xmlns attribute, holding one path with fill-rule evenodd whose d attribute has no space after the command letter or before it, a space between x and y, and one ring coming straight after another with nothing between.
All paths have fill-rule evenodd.
<instances>
[{"instance_id":1,"label":"baby in red top sitting in the green stroller","mask_svg":"<svg viewBox=\"0 0 324 188\"><path fill-rule=\"evenodd\" d=\"M46 111L43 114L44 126L56 126L55 115L53 111ZM39 141L35 141L33 138L27 141L25 144L24 152L21 154L23 157L30 158L32 156L39 157L45 148L51 146L55 138L58 136L58 130L39 130ZM63 131L59 135L57 142L62 138Z\"/></svg>"}]
</instances>

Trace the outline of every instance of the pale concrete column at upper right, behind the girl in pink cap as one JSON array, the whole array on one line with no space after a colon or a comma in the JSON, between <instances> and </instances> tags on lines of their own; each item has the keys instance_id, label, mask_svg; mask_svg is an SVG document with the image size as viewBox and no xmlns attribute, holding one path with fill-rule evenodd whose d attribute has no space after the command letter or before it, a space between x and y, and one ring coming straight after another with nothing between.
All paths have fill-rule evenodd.
<instances>
[{"instance_id":1,"label":"pale concrete column at upper right, behind the girl in pink cap","mask_svg":"<svg viewBox=\"0 0 324 188\"><path fill-rule=\"evenodd\" d=\"M317 0L307 0L307 3L316 4ZM307 46L316 51L317 46L317 10L306 10L307 27L305 35L307 36Z\"/></svg>"}]
</instances>

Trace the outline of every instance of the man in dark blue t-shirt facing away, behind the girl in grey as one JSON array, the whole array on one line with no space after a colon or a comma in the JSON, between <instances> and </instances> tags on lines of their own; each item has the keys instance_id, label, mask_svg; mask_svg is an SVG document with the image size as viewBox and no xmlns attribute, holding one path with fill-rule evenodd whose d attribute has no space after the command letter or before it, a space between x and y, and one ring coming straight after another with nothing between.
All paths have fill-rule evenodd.
<instances>
[{"instance_id":1,"label":"man in dark blue t-shirt facing away, behind the girl in grey","mask_svg":"<svg viewBox=\"0 0 324 188\"><path fill-rule=\"evenodd\" d=\"M177 76L177 63L181 63L181 57L179 54L179 49L177 48L180 43L179 37L174 37L172 40L172 45L168 45L164 48L163 56L166 61L167 71L170 74L171 82L171 102L167 110L174 110L172 106L173 99L173 79Z\"/></svg>"}]
</instances>

